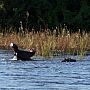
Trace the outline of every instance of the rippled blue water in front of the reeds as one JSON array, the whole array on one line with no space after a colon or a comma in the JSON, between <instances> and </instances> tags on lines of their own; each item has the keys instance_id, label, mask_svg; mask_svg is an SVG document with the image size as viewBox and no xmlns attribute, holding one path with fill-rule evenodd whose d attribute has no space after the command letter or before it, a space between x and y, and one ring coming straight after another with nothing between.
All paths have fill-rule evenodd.
<instances>
[{"instance_id":1,"label":"rippled blue water in front of the reeds","mask_svg":"<svg viewBox=\"0 0 90 90\"><path fill-rule=\"evenodd\" d=\"M0 50L0 90L90 90L90 56L82 61L60 58L14 61L12 51Z\"/></svg>"}]
</instances>

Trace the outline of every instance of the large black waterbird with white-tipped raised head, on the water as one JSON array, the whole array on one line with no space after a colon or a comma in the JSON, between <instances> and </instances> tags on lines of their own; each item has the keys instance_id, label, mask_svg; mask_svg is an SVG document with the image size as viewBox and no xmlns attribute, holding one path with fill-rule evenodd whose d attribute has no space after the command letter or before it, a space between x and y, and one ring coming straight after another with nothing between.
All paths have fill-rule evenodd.
<instances>
[{"instance_id":1,"label":"large black waterbird with white-tipped raised head, on the water","mask_svg":"<svg viewBox=\"0 0 90 90\"><path fill-rule=\"evenodd\" d=\"M17 60L31 60L31 57L36 52L34 48L29 51L19 50L18 46L14 43L11 43L10 47L14 50L14 56L16 56Z\"/></svg>"}]
</instances>

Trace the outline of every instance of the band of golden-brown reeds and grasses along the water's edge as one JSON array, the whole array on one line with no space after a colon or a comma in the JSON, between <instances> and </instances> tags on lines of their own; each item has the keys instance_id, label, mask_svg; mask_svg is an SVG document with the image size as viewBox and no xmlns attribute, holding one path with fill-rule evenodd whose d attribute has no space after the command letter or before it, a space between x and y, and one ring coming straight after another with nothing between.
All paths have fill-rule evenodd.
<instances>
[{"instance_id":1,"label":"band of golden-brown reeds and grasses along the water's edge","mask_svg":"<svg viewBox=\"0 0 90 90\"><path fill-rule=\"evenodd\" d=\"M69 32L66 28L56 28L51 32L0 33L0 48L10 49L10 43L16 43L22 49L36 48L36 55L54 56L58 53L84 56L90 50L90 33L78 30Z\"/></svg>"}]
</instances>

